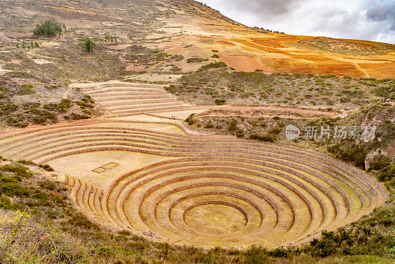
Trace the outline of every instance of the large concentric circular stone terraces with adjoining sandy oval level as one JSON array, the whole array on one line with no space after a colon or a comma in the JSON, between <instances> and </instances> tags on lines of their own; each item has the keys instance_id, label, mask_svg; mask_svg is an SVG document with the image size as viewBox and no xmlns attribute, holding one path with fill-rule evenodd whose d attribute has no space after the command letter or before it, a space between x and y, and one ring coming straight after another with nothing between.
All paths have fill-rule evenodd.
<instances>
[{"instance_id":1,"label":"large concentric circular stone terraces with adjoining sandy oval level","mask_svg":"<svg viewBox=\"0 0 395 264\"><path fill-rule=\"evenodd\" d=\"M385 200L376 181L325 155L146 118L7 134L0 155L66 173L76 204L103 226L196 246L303 243Z\"/></svg>"}]
</instances>

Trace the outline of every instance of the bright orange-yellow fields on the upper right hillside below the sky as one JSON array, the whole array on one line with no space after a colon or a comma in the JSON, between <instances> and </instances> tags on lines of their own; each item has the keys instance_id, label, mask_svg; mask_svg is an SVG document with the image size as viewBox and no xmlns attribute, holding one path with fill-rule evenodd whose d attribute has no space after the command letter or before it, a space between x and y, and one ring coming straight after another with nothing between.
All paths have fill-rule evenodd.
<instances>
[{"instance_id":1,"label":"bright orange-yellow fields on the upper right hillside below the sky","mask_svg":"<svg viewBox=\"0 0 395 264\"><path fill-rule=\"evenodd\" d=\"M158 42L158 46L168 53L183 54L185 57L211 56L216 49L220 58L237 71L264 70L268 73L334 74L355 78L395 78L395 46L356 40L324 39L329 44L350 46L353 54L343 49L325 50L318 45L304 44L304 40L315 41L316 37L261 33L257 29L231 25L223 21L207 20L199 17L165 19L169 27L164 27L168 35L175 34L179 26L183 35L171 41ZM170 27L171 26L171 27ZM177 28L179 30L179 28ZM187 44L192 47L184 48ZM373 52L374 51L374 52ZM370 53L369 53L370 52ZM373 52L373 53L372 53ZM377 53L377 54L376 54ZM188 65L177 65L181 68Z\"/></svg>"}]
</instances>

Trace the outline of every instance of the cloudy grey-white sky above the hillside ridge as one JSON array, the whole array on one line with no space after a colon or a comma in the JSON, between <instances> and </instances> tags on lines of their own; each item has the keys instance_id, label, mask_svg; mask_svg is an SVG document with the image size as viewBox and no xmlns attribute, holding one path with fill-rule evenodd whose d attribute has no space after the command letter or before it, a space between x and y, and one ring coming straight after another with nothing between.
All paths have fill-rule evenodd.
<instances>
[{"instance_id":1,"label":"cloudy grey-white sky above the hillside ridge","mask_svg":"<svg viewBox=\"0 0 395 264\"><path fill-rule=\"evenodd\" d=\"M247 26L395 44L395 0L202 1Z\"/></svg>"}]
</instances>

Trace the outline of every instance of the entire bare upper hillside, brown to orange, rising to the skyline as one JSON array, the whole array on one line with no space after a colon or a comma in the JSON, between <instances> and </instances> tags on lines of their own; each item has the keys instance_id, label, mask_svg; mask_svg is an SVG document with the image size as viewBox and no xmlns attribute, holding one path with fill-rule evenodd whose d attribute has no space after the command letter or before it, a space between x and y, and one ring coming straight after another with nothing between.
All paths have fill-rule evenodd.
<instances>
[{"instance_id":1,"label":"entire bare upper hillside, brown to orange, rising to the skyline","mask_svg":"<svg viewBox=\"0 0 395 264\"><path fill-rule=\"evenodd\" d=\"M0 7L0 26L5 36L22 36L11 32L31 32L37 22L50 18L92 37L113 32L119 42L130 43L130 36L130 40L145 47L182 55L185 59L172 63L181 72L195 71L205 64L187 63L187 58L203 57L223 61L237 71L395 77L394 45L248 28L193 0L5 0ZM130 52L124 46L117 50ZM214 58L212 50L218 51ZM129 65L129 70L142 71ZM144 69L163 70L163 64Z\"/></svg>"}]
</instances>

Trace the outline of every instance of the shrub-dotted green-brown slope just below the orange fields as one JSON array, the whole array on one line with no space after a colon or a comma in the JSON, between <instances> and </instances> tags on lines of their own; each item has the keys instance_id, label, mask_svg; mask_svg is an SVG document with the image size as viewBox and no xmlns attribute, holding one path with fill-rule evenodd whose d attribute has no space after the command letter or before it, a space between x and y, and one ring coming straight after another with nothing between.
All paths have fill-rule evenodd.
<instances>
[{"instance_id":1,"label":"shrub-dotted green-brown slope just below the orange fields","mask_svg":"<svg viewBox=\"0 0 395 264\"><path fill-rule=\"evenodd\" d=\"M220 97L230 104L304 107L333 105L343 109L359 107L380 98L372 96L371 93L376 93L368 86L372 82L334 75L233 72L222 63L213 62L180 78L173 93L177 93L184 101L203 105L213 104L215 97ZM392 86L392 80L377 85L383 90L391 90L389 87ZM215 97L203 91L207 87L218 92Z\"/></svg>"}]
</instances>

